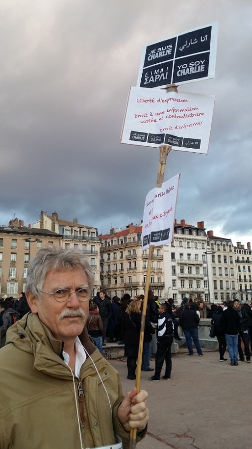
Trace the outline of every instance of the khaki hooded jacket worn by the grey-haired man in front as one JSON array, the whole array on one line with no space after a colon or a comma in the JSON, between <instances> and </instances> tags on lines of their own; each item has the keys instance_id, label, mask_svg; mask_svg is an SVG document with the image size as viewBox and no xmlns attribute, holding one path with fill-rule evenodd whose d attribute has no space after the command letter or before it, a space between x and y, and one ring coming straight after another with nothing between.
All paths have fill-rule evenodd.
<instances>
[{"instance_id":1,"label":"khaki hooded jacket worn by the grey-haired man in front","mask_svg":"<svg viewBox=\"0 0 252 449\"><path fill-rule=\"evenodd\" d=\"M86 337L101 379L89 357L79 379L72 375L61 358L63 342L36 314L10 327L0 349L0 449L93 448L116 443L115 435L128 447L129 433L117 419L124 397L119 373Z\"/></svg>"}]
</instances>

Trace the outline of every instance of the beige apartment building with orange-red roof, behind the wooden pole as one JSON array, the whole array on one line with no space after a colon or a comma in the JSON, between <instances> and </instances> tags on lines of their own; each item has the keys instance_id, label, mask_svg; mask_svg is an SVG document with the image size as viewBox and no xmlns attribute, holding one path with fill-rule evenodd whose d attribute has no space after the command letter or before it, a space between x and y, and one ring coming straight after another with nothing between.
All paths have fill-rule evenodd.
<instances>
[{"instance_id":1,"label":"beige apartment building with orange-red roof, behind the wooden pole","mask_svg":"<svg viewBox=\"0 0 252 449\"><path fill-rule=\"evenodd\" d=\"M111 229L100 235L101 287L109 296L131 297L144 294L149 251L142 252L142 224L126 229ZM154 295L164 297L163 247L155 247L151 262L150 288Z\"/></svg>"}]
</instances>

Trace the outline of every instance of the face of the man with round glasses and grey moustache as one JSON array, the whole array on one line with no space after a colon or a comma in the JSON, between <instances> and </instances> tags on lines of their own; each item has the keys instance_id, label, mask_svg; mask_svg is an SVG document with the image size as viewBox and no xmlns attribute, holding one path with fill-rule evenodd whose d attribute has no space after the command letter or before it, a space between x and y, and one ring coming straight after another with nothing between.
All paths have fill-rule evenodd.
<instances>
[{"instance_id":1,"label":"face of the man with round glasses and grey moustache","mask_svg":"<svg viewBox=\"0 0 252 449\"><path fill-rule=\"evenodd\" d=\"M60 288L77 291L83 287L88 288L88 280L84 270L79 267L74 270L50 270L45 277L42 289L49 292ZM42 293L41 301L30 294L27 299L31 311L38 314L55 338L63 342L74 342L76 336L82 332L88 317L89 301L79 301L76 293L72 293L65 302L57 302L53 295L47 293ZM81 310L85 313L85 317L80 316ZM71 311L75 316L60 317L67 311Z\"/></svg>"}]
</instances>

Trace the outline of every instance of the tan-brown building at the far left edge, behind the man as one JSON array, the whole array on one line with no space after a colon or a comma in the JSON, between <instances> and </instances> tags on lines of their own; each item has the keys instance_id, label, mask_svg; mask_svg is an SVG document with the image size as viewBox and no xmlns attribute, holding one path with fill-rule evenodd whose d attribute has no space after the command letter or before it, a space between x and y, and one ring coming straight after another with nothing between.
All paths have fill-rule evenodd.
<instances>
[{"instance_id":1,"label":"tan-brown building at the far left edge, behind the man","mask_svg":"<svg viewBox=\"0 0 252 449\"><path fill-rule=\"evenodd\" d=\"M15 218L0 226L0 296L16 297L25 291L27 264L36 251L47 245L60 246L61 235L47 229L24 226Z\"/></svg>"}]
</instances>

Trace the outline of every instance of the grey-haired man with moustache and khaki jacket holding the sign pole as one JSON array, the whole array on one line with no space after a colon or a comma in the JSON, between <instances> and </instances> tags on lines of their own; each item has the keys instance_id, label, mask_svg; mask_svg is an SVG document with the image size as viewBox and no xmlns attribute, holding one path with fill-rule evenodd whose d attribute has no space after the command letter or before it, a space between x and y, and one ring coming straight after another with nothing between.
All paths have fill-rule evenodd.
<instances>
[{"instance_id":1,"label":"grey-haired man with moustache and khaki jacket holding the sign pole","mask_svg":"<svg viewBox=\"0 0 252 449\"><path fill-rule=\"evenodd\" d=\"M2 448L113 448L118 439L128 447L130 428L137 439L145 435L147 393L124 396L119 373L89 338L92 289L80 250L50 245L29 261L31 313L8 329L0 349Z\"/></svg>"}]
</instances>

